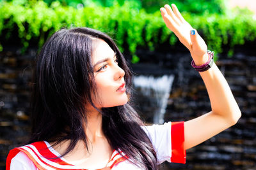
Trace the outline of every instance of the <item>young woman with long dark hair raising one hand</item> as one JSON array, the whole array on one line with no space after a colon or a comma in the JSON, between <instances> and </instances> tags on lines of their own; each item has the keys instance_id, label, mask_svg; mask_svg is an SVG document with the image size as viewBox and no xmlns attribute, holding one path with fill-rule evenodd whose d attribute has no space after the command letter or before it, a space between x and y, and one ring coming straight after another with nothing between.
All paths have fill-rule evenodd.
<instances>
[{"instance_id":1,"label":"young woman with long dark hair raising one hand","mask_svg":"<svg viewBox=\"0 0 256 170\"><path fill-rule=\"evenodd\" d=\"M129 104L131 72L113 40L61 29L38 56L30 144L10 151L6 169L157 169L165 160L184 163L187 149L236 124L241 111L204 40L174 4L160 10L191 52L212 111L145 126Z\"/></svg>"}]
</instances>

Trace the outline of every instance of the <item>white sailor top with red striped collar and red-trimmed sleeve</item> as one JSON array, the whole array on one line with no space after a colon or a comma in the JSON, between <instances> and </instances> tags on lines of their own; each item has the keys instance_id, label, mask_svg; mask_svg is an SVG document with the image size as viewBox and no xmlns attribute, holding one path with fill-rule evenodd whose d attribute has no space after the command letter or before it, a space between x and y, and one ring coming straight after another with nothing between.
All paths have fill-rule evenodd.
<instances>
[{"instance_id":1,"label":"white sailor top with red striped collar and red-trimmed sleeve","mask_svg":"<svg viewBox=\"0 0 256 170\"><path fill-rule=\"evenodd\" d=\"M164 161L185 164L184 122L168 122L163 125L143 126L157 153L158 164ZM102 170L141 169L132 164L124 152L114 150L111 159ZM38 141L10 150L6 170L12 169L83 169L67 162L47 141ZM56 159L52 159L56 158ZM126 159L125 159L126 158ZM99 170L99 169L98 169Z\"/></svg>"}]
</instances>

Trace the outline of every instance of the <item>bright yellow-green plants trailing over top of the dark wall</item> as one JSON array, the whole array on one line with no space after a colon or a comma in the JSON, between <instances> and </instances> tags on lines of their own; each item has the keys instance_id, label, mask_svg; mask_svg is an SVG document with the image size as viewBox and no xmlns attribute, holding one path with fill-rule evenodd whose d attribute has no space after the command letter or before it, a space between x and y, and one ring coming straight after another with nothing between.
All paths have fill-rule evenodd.
<instances>
[{"instance_id":1,"label":"bright yellow-green plants trailing over top of the dark wall","mask_svg":"<svg viewBox=\"0 0 256 170\"><path fill-rule=\"evenodd\" d=\"M25 1L0 3L0 35L10 38L17 25L23 51L28 48L32 38L39 39L38 46L42 46L45 38L61 27L91 27L106 32L115 39L120 50L128 45L133 56L132 62L139 61L135 55L138 46L154 50L164 42L176 45L178 41L175 34L165 26L160 11L147 13L143 9L134 9L130 1L125 1L122 6L118 3L110 7L91 4L79 9L62 6L58 1L51 6L44 1L22 3ZM256 38L256 22L248 12L237 10L227 15L214 13L204 16L183 12L182 15L205 39L209 50L216 53L223 52L223 46L228 46L229 54L232 55L235 45L243 45L245 41ZM1 34L3 30L7 31L4 35Z\"/></svg>"}]
</instances>

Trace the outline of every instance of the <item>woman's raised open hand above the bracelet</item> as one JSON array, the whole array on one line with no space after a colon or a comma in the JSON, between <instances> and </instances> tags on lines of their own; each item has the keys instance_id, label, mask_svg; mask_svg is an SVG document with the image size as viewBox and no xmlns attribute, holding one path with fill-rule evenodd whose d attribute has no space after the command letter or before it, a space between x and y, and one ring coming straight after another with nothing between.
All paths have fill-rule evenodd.
<instances>
[{"instance_id":1,"label":"woman's raised open hand above the bracelet","mask_svg":"<svg viewBox=\"0 0 256 170\"><path fill-rule=\"evenodd\" d=\"M166 4L164 8L160 8L160 11L164 23L174 32L180 42L188 48L195 64L197 66L204 64L209 59L207 45L197 31L184 20L177 6L172 4L171 8Z\"/></svg>"}]
</instances>

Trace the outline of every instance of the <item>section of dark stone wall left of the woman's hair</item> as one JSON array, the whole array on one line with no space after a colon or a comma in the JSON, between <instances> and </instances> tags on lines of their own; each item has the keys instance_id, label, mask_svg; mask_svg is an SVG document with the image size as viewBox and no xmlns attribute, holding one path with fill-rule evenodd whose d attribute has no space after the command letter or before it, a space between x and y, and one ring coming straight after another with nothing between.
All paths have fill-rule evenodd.
<instances>
[{"instance_id":1,"label":"section of dark stone wall left of the woman's hair","mask_svg":"<svg viewBox=\"0 0 256 170\"><path fill-rule=\"evenodd\" d=\"M0 53L0 169L12 148L24 145L29 134L29 98L36 50L20 55L10 46Z\"/></svg>"}]
</instances>

